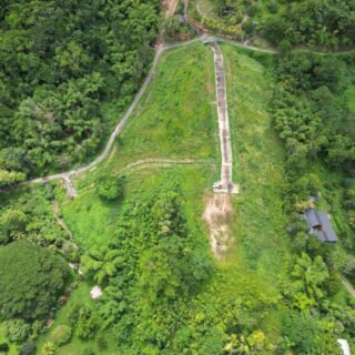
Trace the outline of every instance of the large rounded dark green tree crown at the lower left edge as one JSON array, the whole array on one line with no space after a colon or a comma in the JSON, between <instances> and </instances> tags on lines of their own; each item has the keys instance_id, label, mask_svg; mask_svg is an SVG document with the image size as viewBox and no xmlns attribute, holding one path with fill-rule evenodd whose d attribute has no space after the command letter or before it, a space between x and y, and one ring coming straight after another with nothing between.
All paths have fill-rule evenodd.
<instances>
[{"instance_id":1,"label":"large rounded dark green tree crown at the lower left edge","mask_svg":"<svg viewBox=\"0 0 355 355\"><path fill-rule=\"evenodd\" d=\"M0 275L1 316L36 320L51 312L69 266L50 250L17 241L0 248Z\"/></svg>"}]
</instances>

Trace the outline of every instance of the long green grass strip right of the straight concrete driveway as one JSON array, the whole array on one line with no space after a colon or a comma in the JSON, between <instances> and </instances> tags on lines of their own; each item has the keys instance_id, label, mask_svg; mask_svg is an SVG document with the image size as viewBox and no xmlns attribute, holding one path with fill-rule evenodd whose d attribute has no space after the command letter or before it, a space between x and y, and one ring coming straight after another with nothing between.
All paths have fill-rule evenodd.
<instances>
[{"instance_id":1,"label":"long green grass strip right of the straight concrete driveway","mask_svg":"<svg viewBox=\"0 0 355 355\"><path fill-rule=\"evenodd\" d=\"M236 48L222 45L233 149L233 230L237 267L273 290L286 277L291 257L283 212L284 152L267 112L272 94L265 68Z\"/></svg>"}]
</instances>

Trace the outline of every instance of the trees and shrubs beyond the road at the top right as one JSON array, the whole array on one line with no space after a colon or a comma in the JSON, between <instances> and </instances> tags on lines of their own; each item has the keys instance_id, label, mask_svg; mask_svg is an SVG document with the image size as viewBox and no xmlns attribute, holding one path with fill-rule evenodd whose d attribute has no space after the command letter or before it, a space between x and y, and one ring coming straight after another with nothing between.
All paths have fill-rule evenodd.
<instances>
[{"instance_id":1,"label":"trees and shrubs beyond the road at the top right","mask_svg":"<svg viewBox=\"0 0 355 355\"><path fill-rule=\"evenodd\" d=\"M207 29L275 47L353 48L354 3L343 1L190 1L190 16Z\"/></svg>"}]
</instances>

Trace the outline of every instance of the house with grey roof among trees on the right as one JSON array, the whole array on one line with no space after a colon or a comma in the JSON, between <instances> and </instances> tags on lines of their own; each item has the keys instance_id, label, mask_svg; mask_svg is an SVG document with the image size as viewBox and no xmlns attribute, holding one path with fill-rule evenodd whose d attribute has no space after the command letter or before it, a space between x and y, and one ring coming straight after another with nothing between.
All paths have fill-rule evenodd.
<instances>
[{"instance_id":1,"label":"house with grey roof among trees on the right","mask_svg":"<svg viewBox=\"0 0 355 355\"><path fill-rule=\"evenodd\" d=\"M325 212L307 209L303 215L310 226L308 234L316 235L321 242L335 243L337 241L333 225Z\"/></svg>"}]
</instances>

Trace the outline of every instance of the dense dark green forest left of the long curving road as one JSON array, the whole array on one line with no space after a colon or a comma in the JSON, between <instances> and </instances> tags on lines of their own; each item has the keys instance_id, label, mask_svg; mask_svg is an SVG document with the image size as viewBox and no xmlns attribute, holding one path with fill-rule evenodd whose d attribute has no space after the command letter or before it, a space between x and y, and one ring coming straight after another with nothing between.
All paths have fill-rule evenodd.
<instances>
[{"instance_id":1,"label":"dense dark green forest left of the long curving road","mask_svg":"<svg viewBox=\"0 0 355 355\"><path fill-rule=\"evenodd\" d=\"M140 87L158 11L153 0L1 1L0 186L98 152Z\"/></svg>"}]
</instances>

